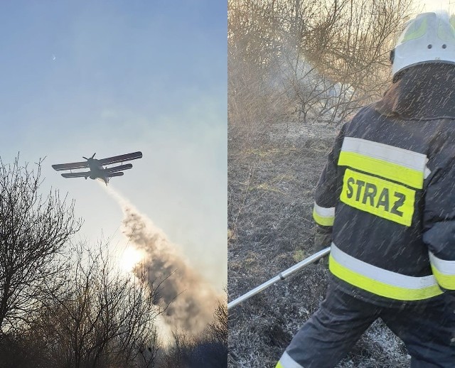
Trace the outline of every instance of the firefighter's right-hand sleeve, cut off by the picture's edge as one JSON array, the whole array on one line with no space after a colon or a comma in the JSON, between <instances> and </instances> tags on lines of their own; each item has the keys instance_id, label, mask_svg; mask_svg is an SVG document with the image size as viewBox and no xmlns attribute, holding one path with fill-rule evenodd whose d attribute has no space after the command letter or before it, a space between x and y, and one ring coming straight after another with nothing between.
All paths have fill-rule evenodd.
<instances>
[{"instance_id":1,"label":"firefighter's right-hand sleeve, cut off by the picture's edge","mask_svg":"<svg viewBox=\"0 0 455 368\"><path fill-rule=\"evenodd\" d=\"M424 197L423 239L434 277L455 296L455 166L446 162L429 177Z\"/></svg>"}]
</instances>

